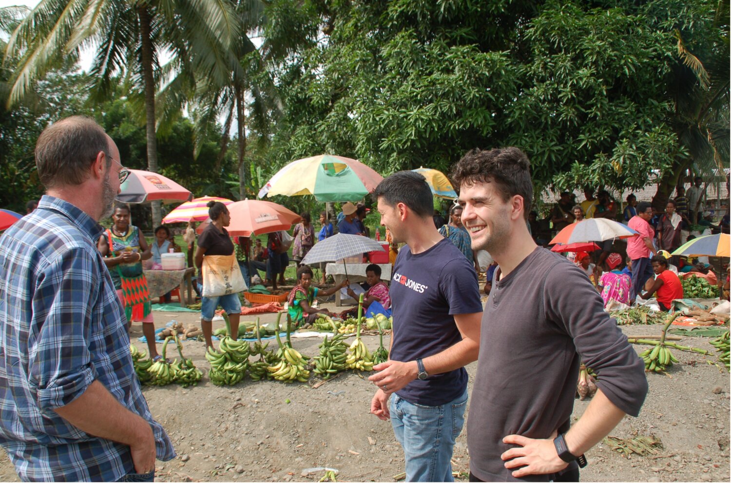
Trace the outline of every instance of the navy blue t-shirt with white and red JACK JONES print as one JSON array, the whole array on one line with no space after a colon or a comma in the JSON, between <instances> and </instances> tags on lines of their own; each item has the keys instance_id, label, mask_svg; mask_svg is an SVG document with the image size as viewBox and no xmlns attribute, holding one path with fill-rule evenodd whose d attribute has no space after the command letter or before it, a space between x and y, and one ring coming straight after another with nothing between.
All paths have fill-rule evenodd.
<instances>
[{"instance_id":1,"label":"navy blue t-shirt with white and red JACK JONES print","mask_svg":"<svg viewBox=\"0 0 731 483\"><path fill-rule=\"evenodd\" d=\"M398 250L390 285L393 345L390 359L410 362L450 348L462 340L453 315L482 312L474 266L449 239L414 255ZM428 406L453 401L467 389L467 371L415 379L396 394Z\"/></svg>"}]
</instances>

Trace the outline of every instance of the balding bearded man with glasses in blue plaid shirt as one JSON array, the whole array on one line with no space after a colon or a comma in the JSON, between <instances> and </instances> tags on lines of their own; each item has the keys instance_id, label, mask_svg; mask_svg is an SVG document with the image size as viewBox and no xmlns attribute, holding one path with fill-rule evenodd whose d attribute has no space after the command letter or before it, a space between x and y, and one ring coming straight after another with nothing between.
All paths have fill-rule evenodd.
<instances>
[{"instance_id":1,"label":"balding bearded man with glasses in blue plaid shirt","mask_svg":"<svg viewBox=\"0 0 731 483\"><path fill-rule=\"evenodd\" d=\"M175 451L96 250L128 171L83 117L42 132L36 165L47 195L0 238L0 444L26 481L151 482Z\"/></svg>"}]
</instances>

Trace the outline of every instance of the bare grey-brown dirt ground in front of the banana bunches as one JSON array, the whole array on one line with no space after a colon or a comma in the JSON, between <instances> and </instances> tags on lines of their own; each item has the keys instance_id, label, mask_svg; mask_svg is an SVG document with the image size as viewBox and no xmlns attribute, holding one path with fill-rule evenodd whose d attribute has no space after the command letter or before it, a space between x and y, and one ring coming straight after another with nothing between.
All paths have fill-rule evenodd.
<instances>
[{"instance_id":1,"label":"bare grey-brown dirt ground in front of the banana bunches","mask_svg":"<svg viewBox=\"0 0 731 483\"><path fill-rule=\"evenodd\" d=\"M173 318L187 325L198 317L193 312L155 312L157 326ZM268 314L262 321L274 318ZM222 325L214 322L214 329ZM660 329L623 327L630 336L659 334ZM137 340L141 335L135 324L132 340L145 349ZM378 337L366 336L364 342L374 349ZM319 339L293 339L292 343L301 353L314 356ZM685 337L679 343L713 350L707 338ZM246 378L230 389L217 387L207 378L203 342L183 344L186 356L204 372L199 385L143 389L154 417L178 452L174 460L158 462L156 481L317 482L324 470L309 474L306 470L327 467L338 470L339 481L390 482L404 471L404 456L390 424L368 413L374 386L361 375L346 372L317 389L312 387L318 380L314 375L308 384ZM635 345L637 352L646 347ZM667 374L648 375L650 392L640 417L627 416L611 433L621 438L654 434L664 449L652 457L629 459L599 443L587 454L583 481L729 480L729 374L715 365L716 356L673 353L680 364ZM467 370L471 392L476 364ZM574 418L587 405L588 400L576 400ZM453 469L469 471L468 463L463 432L455 447ZM4 452L0 481L18 481Z\"/></svg>"}]
</instances>

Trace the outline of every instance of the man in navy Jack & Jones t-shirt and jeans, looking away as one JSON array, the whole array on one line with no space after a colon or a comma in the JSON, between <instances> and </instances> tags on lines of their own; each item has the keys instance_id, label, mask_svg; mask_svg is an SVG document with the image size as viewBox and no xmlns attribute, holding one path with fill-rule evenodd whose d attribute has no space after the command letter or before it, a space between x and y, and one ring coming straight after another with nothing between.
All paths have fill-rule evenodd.
<instances>
[{"instance_id":1,"label":"man in navy Jack & Jones t-shirt and jeans, looking away","mask_svg":"<svg viewBox=\"0 0 731 483\"><path fill-rule=\"evenodd\" d=\"M381 224L398 251L390 284L393 333L371 412L391 419L404 449L406 481L452 482L452 448L467 405L467 372L477 360L482 304L477 274L436 231L424 176L400 171L376 187ZM390 398L390 407L389 407ZM449 430L444 430L449 428Z\"/></svg>"}]
</instances>

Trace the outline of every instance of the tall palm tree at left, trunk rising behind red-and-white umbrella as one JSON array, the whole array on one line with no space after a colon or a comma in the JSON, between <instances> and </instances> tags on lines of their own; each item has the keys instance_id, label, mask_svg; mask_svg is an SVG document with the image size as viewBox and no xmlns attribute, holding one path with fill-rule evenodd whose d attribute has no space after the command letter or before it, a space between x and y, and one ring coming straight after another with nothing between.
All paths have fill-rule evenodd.
<instances>
[{"instance_id":1,"label":"tall palm tree at left, trunk rising behind red-and-white umbrella","mask_svg":"<svg viewBox=\"0 0 731 483\"><path fill-rule=\"evenodd\" d=\"M155 93L162 83L159 56L173 66L221 70L239 23L222 0L41 0L13 31L6 58L20 56L9 105L18 102L59 59L93 45L91 93L110 92L113 77L126 76L131 94L144 97L148 171L158 171ZM169 72L169 71L168 71ZM154 225L161 220L152 205Z\"/></svg>"}]
</instances>

